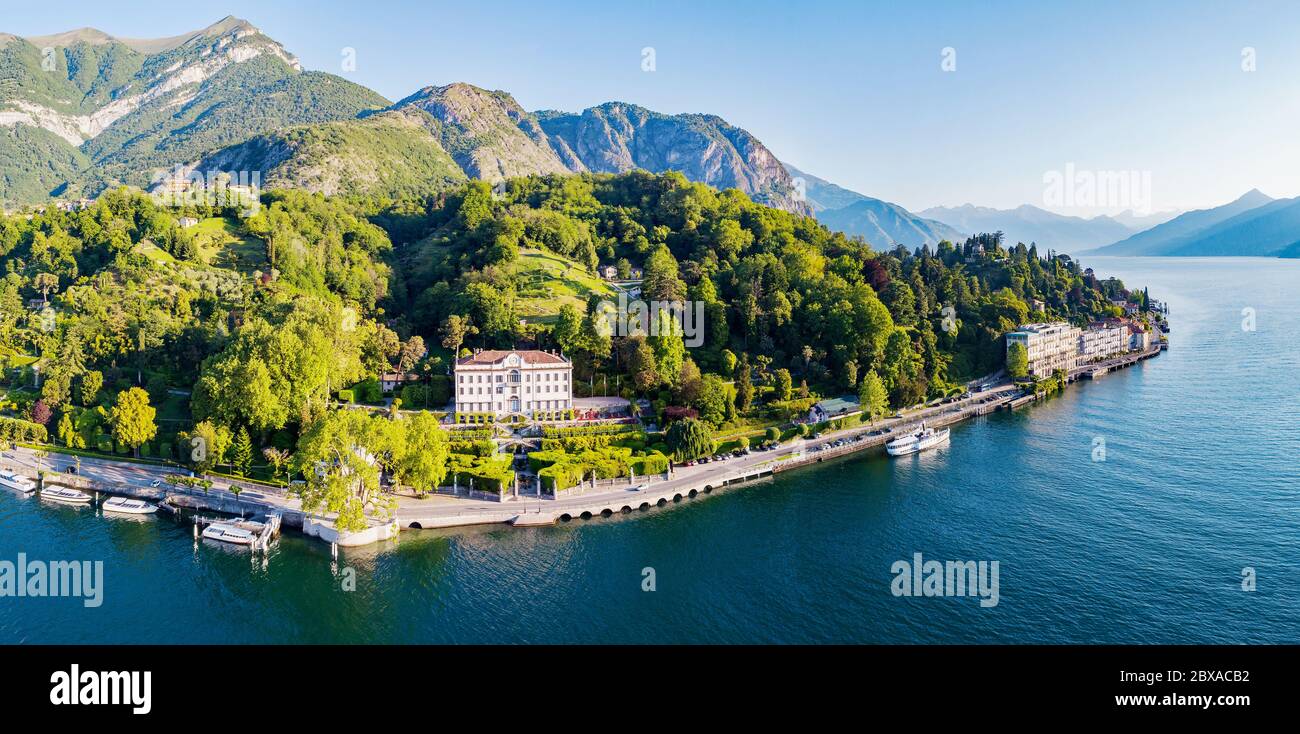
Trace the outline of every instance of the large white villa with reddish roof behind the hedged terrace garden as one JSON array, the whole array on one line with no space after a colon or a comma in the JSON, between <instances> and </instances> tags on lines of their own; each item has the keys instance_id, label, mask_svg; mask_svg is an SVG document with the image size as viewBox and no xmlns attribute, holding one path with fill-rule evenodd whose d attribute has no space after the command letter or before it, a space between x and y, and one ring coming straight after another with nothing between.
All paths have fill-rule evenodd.
<instances>
[{"instance_id":1,"label":"large white villa with reddish roof behind the hedged terrace garden","mask_svg":"<svg viewBox=\"0 0 1300 734\"><path fill-rule=\"evenodd\" d=\"M573 408L573 362L541 349L480 349L456 360L458 413L533 417Z\"/></svg>"}]
</instances>

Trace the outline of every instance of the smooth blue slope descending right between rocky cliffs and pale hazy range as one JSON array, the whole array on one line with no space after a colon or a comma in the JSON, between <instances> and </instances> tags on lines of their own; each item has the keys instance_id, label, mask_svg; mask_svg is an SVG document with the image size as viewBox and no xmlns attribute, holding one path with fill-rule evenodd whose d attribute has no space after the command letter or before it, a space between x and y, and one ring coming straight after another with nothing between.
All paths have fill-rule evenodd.
<instances>
[{"instance_id":1,"label":"smooth blue slope descending right between rocky cliffs and pale hazy range","mask_svg":"<svg viewBox=\"0 0 1300 734\"><path fill-rule=\"evenodd\" d=\"M949 242L966 239L942 222L918 217L889 201L863 196L803 173L790 164L784 166L796 184L802 183L809 208L819 222L844 234L861 235L878 249L889 249L898 244L919 247L937 244L945 239Z\"/></svg>"}]
</instances>

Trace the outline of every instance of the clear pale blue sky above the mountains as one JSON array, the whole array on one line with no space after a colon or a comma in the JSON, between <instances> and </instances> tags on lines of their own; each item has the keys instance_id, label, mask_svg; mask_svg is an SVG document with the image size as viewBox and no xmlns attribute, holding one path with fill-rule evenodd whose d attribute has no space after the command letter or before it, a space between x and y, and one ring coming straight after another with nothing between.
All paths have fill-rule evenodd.
<instances>
[{"instance_id":1,"label":"clear pale blue sky above the mountains","mask_svg":"<svg viewBox=\"0 0 1300 734\"><path fill-rule=\"evenodd\" d=\"M341 49L355 48L356 70L343 75L394 100L463 81L529 109L624 100L710 112L809 173L911 209L1043 205L1044 174L1070 162L1149 171L1156 210L1252 187L1300 195L1296 3L5 5L0 30L17 35L165 36L229 13L308 69L341 73ZM645 47L653 73L641 69ZM1244 47L1256 49L1253 73Z\"/></svg>"}]
</instances>

